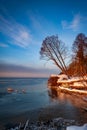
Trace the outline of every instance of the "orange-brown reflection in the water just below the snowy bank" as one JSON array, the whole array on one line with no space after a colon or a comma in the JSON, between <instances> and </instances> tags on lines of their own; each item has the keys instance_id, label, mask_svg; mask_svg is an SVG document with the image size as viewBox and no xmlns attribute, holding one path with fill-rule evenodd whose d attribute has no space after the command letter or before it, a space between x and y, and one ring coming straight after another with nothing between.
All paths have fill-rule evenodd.
<instances>
[{"instance_id":1,"label":"orange-brown reflection in the water just below the snowy bank","mask_svg":"<svg viewBox=\"0 0 87 130\"><path fill-rule=\"evenodd\" d=\"M56 100L59 103L64 103L66 105L71 105L77 108L87 108L87 96L77 95L77 94L65 94L62 92L58 92L55 88L49 89L48 95L51 100Z\"/></svg>"}]
</instances>

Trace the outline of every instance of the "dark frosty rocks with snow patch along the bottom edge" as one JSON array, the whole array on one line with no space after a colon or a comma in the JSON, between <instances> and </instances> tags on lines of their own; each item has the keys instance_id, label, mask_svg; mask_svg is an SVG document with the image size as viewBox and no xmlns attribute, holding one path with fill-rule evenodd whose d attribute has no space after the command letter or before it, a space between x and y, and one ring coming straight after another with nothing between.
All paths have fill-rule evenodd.
<instances>
[{"instance_id":1,"label":"dark frosty rocks with snow patch along the bottom edge","mask_svg":"<svg viewBox=\"0 0 87 130\"><path fill-rule=\"evenodd\" d=\"M18 128L19 125L15 127L12 126L6 130L18 130ZM24 128L25 130L87 130L87 124L77 126L77 122L75 122L75 120L59 117L48 121L37 121L33 123L27 120L25 124L21 124L20 130L24 130Z\"/></svg>"}]
</instances>

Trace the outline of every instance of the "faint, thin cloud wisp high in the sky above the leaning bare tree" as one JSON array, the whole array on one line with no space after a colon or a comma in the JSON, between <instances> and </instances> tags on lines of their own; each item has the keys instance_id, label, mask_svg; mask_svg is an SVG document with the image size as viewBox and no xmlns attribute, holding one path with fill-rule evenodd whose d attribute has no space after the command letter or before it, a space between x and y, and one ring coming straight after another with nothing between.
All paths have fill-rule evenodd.
<instances>
[{"instance_id":1,"label":"faint, thin cloud wisp high in the sky above the leaning bare tree","mask_svg":"<svg viewBox=\"0 0 87 130\"><path fill-rule=\"evenodd\" d=\"M50 32L52 28L50 22L47 21L44 16L40 15L40 13L38 13L37 11L35 12L31 11L31 12L28 12L28 17L37 35L40 35L40 37L43 37L44 35L47 35L48 32Z\"/></svg>"}]
</instances>

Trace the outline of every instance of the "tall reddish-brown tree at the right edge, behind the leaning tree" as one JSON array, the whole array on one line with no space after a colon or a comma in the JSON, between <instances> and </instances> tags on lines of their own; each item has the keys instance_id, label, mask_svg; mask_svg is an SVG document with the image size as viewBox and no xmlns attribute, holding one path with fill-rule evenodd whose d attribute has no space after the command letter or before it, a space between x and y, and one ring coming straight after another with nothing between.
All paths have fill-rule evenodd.
<instances>
[{"instance_id":1,"label":"tall reddish-brown tree at the right edge, behind the leaning tree","mask_svg":"<svg viewBox=\"0 0 87 130\"><path fill-rule=\"evenodd\" d=\"M85 75L87 74L87 37L80 33L76 36L76 39L72 45L73 58L69 65L69 71L74 75Z\"/></svg>"}]
</instances>

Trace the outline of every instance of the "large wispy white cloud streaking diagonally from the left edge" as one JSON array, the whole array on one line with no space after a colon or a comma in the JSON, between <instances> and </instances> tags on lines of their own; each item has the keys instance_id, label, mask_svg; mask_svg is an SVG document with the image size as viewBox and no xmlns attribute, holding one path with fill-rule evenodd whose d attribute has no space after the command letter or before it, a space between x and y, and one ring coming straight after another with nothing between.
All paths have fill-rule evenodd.
<instances>
[{"instance_id":1,"label":"large wispy white cloud streaking diagonally from the left edge","mask_svg":"<svg viewBox=\"0 0 87 130\"><path fill-rule=\"evenodd\" d=\"M27 47L32 39L29 29L17 23L12 17L0 15L0 33L8 37L11 44Z\"/></svg>"}]
</instances>

